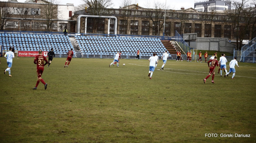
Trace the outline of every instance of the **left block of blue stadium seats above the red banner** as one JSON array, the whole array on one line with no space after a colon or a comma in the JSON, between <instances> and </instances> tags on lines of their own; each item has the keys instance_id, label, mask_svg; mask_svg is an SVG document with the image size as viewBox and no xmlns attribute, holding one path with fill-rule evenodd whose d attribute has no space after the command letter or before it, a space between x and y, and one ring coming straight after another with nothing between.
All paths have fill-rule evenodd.
<instances>
[{"instance_id":1,"label":"left block of blue stadium seats above the red banner","mask_svg":"<svg viewBox=\"0 0 256 143\"><path fill-rule=\"evenodd\" d=\"M63 35L33 35L33 34L0 34L0 43L4 50L14 47L15 51L49 51L51 48L57 53L66 54L73 48L68 36Z\"/></svg>"}]
</instances>

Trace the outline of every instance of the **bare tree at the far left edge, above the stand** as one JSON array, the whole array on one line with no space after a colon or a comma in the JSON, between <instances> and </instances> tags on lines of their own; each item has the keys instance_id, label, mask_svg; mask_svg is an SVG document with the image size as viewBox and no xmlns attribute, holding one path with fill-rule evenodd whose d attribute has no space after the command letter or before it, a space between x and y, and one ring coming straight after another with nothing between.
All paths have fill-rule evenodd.
<instances>
[{"instance_id":1,"label":"bare tree at the far left edge, above the stand","mask_svg":"<svg viewBox=\"0 0 256 143\"><path fill-rule=\"evenodd\" d=\"M4 30L6 23L9 21L9 19L5 18L10 18L10 8L7 3L0 3L0 29Z\"/></svg>"}]
</instances>

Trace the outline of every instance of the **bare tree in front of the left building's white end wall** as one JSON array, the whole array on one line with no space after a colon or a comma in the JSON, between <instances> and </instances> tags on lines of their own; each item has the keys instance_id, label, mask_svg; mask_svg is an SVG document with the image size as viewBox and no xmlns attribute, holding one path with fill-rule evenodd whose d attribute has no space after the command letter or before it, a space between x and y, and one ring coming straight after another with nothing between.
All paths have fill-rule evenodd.
<instances>
[{"instance_id":1,"label":"bare tree in front of the left building's white end wall","mask_svg":"<svg viewBox=\"0 0 256 143\"><path fill-rule=\"evenodd\" d=\"M45 0L46 3L43 3L41 5L41 17L45 19L43 21L45 30L46 31L52 31L53 28L56 28L57 25L54 23L53 19L58 18L58 14L60 11L58 11L58 0Z\"/></svg>"}]
</instances>

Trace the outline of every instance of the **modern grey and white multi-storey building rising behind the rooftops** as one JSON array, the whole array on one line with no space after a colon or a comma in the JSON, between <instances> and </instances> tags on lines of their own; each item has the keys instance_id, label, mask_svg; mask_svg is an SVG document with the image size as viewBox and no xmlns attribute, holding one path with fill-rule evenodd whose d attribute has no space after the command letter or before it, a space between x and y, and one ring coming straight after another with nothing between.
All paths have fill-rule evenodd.
<instances>
[{"instance_id":1,"label":"modern grey and white multi-storey building rising behind the rooftops","mask_svg":"<svg viewBox=\"0 0 256 143\"><path fill-rule=\"evenodd\" d=\"M230 0L195 1L194 8L201 12L230 10Z\"/></svg>"}]
</instances>

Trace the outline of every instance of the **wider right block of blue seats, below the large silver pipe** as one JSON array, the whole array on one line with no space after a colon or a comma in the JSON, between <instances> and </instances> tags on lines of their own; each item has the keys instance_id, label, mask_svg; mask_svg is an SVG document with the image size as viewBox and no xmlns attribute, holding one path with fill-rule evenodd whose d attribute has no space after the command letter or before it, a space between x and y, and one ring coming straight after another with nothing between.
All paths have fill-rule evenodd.
<instances>
[{"instance_id":1,"label":"wider right block of blue seats, below the large silver pipe","mask_svg":"<svg viewBox=\"0 0 256 143\"><path fill-rule=\"evenodd\" d=\"M160 39L126 38L126 37L94 37L75 36L81 52L109 53L114 55L117 51L124 54L137 55L140 50L142 56L151 56L153 53L162 56L166 48ZM169 53L169 52L168 52Z\"/></svg>"}]
</instances>

